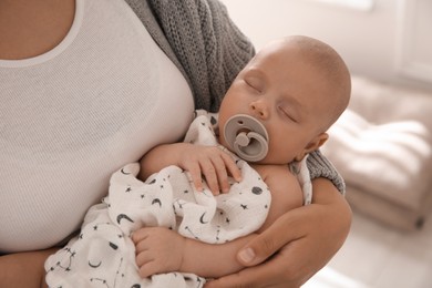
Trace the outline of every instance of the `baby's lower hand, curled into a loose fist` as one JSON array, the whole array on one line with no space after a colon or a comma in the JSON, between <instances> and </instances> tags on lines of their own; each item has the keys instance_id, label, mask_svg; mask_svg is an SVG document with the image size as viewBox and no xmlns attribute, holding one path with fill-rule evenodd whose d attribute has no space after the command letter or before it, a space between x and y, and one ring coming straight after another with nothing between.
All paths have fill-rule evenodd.
<instances>
[{"instance_id":1,"label":"baby's lower hand, curled into a loose fist","mask_svg":"<svg viewBox=\"0 0 432 288\"><path fill-rule=\"evenodd\" d=\"M132 240L142 278L181 269L185 238L177 233L165 227L146 227L136 230Z\"/></svg>"}]
</instances>

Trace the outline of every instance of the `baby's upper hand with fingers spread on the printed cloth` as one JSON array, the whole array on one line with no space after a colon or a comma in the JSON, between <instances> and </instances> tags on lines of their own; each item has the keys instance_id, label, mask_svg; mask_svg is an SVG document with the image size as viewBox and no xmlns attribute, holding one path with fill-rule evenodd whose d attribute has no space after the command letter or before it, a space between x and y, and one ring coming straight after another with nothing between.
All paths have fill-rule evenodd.
<instances>
[{"instance_id":1,"label":"baby's upper hand with fingers spread on the printed cloth","mask_svg":"<svg viewBox=\"0 0 432 288\"><path fill-rule=\"evenodd\" d=\"M240 169L232 155L215 146L191 145L178 165L188 171L197 191L203 191L203 176L213 195L229 191L228 176L241 181Z\"/></svg>"}]
</instances>

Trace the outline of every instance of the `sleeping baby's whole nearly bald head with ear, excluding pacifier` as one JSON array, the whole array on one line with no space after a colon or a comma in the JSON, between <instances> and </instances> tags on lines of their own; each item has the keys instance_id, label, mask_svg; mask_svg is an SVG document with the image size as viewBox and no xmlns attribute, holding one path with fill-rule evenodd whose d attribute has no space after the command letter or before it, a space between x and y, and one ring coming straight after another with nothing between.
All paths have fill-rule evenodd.
<instances>
[{"instance_id":1,"label":"sleeping baby's whole nearly bald head with ear, excluding pacifier","mask_svg":"<svg viewBox=\"0 0 432 288\"><path fill-rule=\"evenodd\" d=\"M351 93L347 65L328 44L304 35L270 42L234 80L219 110L220 142L236 114L257 119L269 147L259 163L300 161L321 146Z\"/></svg>"}]
</instances>

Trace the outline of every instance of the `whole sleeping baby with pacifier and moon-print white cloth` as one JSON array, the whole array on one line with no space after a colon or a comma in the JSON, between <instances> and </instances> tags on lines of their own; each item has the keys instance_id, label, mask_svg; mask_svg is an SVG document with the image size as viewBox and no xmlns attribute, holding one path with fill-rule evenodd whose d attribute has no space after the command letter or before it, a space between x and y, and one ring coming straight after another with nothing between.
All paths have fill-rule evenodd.
<instances>
[{"instance_id":1,"label":"whole sleeping baby with pacifier and moon-print white cloth","mask_svg":"<svg viewBox=\"0 0 432 288\"><path fill-rule=\"evenodd\" d=\"M247 241L310 203L305 158L349 97L349 71L328 44L301 35L269 43L218 114L198 115L185 142L113 175L81 235L47 260L48 284L202 287L243 269L236 253Z\"/></svg>"}]
</instances>

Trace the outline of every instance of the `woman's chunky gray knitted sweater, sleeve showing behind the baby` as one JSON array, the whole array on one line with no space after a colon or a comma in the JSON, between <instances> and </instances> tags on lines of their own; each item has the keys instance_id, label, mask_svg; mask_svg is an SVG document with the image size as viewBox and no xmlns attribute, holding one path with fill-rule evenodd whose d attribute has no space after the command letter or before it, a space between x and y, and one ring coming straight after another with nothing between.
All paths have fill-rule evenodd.
<instances>
[{"instance_id":1,"label":"woman's chunky gray knitted sweater, sleeve showing behind the baby","mask_svg":"<svg viewBox=\"0 0 432 288\"><path fill-rule=\"evenodd\" d=\"M195 109L216 112L237 73L254 56L249 39L218 0L125 0L153 39L182 71ZM319 151L308 157L312 178L326 177L344 193L344 183Z\"/></svg>"}]
</instances>

